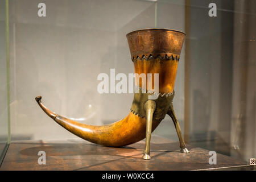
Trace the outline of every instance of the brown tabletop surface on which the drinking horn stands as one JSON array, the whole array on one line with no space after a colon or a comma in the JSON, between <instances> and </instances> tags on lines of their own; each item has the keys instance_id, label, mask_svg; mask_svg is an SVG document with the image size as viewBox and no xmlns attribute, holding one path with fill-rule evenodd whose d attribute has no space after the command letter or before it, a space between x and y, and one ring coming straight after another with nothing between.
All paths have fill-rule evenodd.
<instances>
[{"instance_id":1,"label":"brown tabletop surface on which the drinking horn stands","mask_svg":"<svg viewBox=\"0 0 256 182\"><path fill-rule=\"evenodd\" d=\"M10 144L0 170L197 170L247 165L217 154L210 165L209 151L193 148L179 152L179 143L153 135L151 160L143 160L144 140L130 146L104 147L85 140L24 141ZM39 165L39 151L46 152L46 165Z\"/></svg>"}]
</instances>

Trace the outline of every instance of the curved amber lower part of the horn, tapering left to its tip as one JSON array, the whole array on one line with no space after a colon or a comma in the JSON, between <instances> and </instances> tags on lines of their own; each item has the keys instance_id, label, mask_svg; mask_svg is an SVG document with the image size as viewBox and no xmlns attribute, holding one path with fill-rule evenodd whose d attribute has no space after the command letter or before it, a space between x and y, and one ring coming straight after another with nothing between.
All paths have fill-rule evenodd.
<instances>
[{"instance_id":1,"label":"curved amber lower part of the horn, tapering left to its tip","mask_svg":"<svg viewBox=\"0 0 256 182\"><path fill-rule=\"evenodd\" d=\"M85 125L52 113L52 111L48 110L42 104L41 98L40 96L36 97L36 101L49 117L71 133L89 142L104 146L118 147L126 146L145 138L146 119L131 112L125 118L110 125ZM152 129L154 130L159 123L160 122L154 122Z\"/></svg>"}]
</instances>

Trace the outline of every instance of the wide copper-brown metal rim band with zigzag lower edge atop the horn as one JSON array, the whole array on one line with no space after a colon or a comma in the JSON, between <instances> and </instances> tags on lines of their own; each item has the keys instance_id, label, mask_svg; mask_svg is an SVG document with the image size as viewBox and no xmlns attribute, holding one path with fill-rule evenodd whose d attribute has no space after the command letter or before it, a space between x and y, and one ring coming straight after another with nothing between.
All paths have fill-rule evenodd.
<instances>
[{"instance_id":1,"label":"wide copper-brown metal rim band with zigzag lower edge atop the horn","mask_svg":"<svg viewBox=\"0 0 256 182\"><path fill-rule=\"evenodd\" d=\"M185 34L171 29L152 28L130 32L126 35L131 59L143 56L173 56L179 59Z\"/></svg>"}]
</instances>

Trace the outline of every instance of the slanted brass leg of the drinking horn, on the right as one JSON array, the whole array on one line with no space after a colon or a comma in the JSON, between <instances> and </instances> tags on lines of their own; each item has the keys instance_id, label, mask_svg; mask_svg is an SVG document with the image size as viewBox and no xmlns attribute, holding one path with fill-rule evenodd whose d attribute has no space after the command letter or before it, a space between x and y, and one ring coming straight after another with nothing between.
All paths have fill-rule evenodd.
<instances>
[{"instance_id":1,"label":"slanted brass leg of the drinking horn, on the right","mask_svg":"<svg viewBox=\"0 0 256 182\"><path fill-rule=\"evenodd\" d=\"M179 137L180 140L180 152L182 153L189 153L188 149L186 148L185 142L183 140L182 134L181 134L181 129L180 129L180 124L179 121L177 121L175 112L174 112L174 105L171 104L171 106L169 107L169 110L167 112L168 115L170 115L170 117L172 118L172 121L174 122L174 126L175 129L177 131L177 135Z\"/></svg>"}]
</instances>

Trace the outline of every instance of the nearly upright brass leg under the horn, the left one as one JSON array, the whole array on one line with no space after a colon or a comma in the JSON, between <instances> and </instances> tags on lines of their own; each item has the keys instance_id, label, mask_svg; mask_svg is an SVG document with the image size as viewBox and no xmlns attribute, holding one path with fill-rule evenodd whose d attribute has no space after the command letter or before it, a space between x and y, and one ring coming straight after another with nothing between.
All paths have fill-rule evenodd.
<instances>
[{"instance_id":1,"label":"nearly upright brass leg under the horn, the left one","mask_svg":"<svg viewBox=\"0 0 256 182\"><path fill-rule=\"evenodd\" d=\"M150 138L151 138L151 131L152 131L152 119L153 119L153 114L155 111L155 101L148 100L144 104L144 110L146 111L146 144L145 144L145 150L144 150L144 155L143 159L151 159L150 158Z\"/></svg>"}]
</instances>

